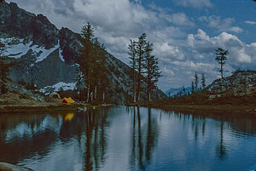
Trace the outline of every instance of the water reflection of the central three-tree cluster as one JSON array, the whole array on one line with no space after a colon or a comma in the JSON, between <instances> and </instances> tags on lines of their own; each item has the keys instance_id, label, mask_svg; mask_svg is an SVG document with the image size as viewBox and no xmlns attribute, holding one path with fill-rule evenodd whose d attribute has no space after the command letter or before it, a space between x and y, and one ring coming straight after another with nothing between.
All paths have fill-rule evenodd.
<instances>
[{"instance_id":1,"label":"water reflection of the central three-tree cluster","mask_svg":"<svg viewBox=\"0 0 256 171\"><path fill-rule=\"evenodd\" d=\"M137 113L135 107L133 107L133 115L130 165L132 168L137 168L138 165L141 170L146 170L151 163L154 147L157 144L158 125L156 118L151 117L150 108L148 108L147 127L142 127L139 107L137 107Z\"/></svg>"}]
</instances>

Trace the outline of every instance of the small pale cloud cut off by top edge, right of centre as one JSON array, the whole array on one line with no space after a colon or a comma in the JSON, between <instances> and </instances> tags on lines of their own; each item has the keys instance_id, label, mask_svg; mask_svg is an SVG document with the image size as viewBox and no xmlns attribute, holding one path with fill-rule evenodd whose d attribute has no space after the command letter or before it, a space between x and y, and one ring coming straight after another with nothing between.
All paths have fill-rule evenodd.
<instances>
[{"instance_id":1,"label":"small pale cloud cut off by top edge, right of centre","mask_svg":"<svg viewBox=\"0 0 256 171\"><path fill-rule=\"evenodd\" d=\"M173 0L178 5L184 7L192 7L196 9L201 9L203 7L211 8L213 4L210 0Z\"/></svg>"}]
</instances>

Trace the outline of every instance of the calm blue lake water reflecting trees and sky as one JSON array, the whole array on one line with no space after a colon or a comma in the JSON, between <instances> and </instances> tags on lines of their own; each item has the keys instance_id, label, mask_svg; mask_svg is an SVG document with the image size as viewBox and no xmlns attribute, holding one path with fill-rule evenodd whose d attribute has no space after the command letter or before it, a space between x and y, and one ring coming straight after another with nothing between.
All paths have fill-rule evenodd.
<instances>
[{"instance_id":1,"label":"calm blue lake water reflecting trees and sky","mask_svg":"<svg viewBox=\"0 0 256 171\"><path fill-rule=\"evenodd\" d=\"M0 162L36 171L250 170L256 118L116 106L0 115Z\"/></svg>"}]
</instances>

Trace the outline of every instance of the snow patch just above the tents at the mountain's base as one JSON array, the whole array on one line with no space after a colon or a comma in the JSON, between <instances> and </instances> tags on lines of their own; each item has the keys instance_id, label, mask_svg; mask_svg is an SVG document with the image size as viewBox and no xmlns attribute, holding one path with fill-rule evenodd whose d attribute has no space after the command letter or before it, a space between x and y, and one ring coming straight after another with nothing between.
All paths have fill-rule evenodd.
<instances>
[{"instance_id":1,"label":"snow patch just above the tents at the mountain's base","mask_svg":"<svg viewBox=\"0 0 256 171\"><path fill-rule=\"evenodd\" d=\"M61 88L64 91L74 90L76 88L76 83L63 83L63 82L60 82L60 83L56 83L55 85L52 85L52 86L46 86L44 88L41 88L40 92L42 92L44 94L49 94L50 92L53 92L53 91L61 91Z\"/></svg>"}]
</instances>

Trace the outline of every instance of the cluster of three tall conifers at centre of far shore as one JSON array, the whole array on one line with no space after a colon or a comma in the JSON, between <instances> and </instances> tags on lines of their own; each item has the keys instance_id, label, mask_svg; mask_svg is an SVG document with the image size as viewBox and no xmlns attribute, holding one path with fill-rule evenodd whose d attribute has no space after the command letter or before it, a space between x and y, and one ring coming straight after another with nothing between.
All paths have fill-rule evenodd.
<instances>
[{"instance_id":1,"label":"cluster of three tall conifers at centre of far shore","mask_svg":"<svg viewBox=\"0 0 256 171\"><path fill-rule=\"evenodd\" d=\"M150 43L146 39L146 33L138 37L136 40L130 40L131 43L128 46L129 58L131 64L131 91L133 96L133 102L139 102L141 100L141 93L143 91L142 83L147 84L148 101L151 101L152 89L156 86L161 72L158 66L158 58L153 53L153 43Z\"/></svg>"}]
</instances>

